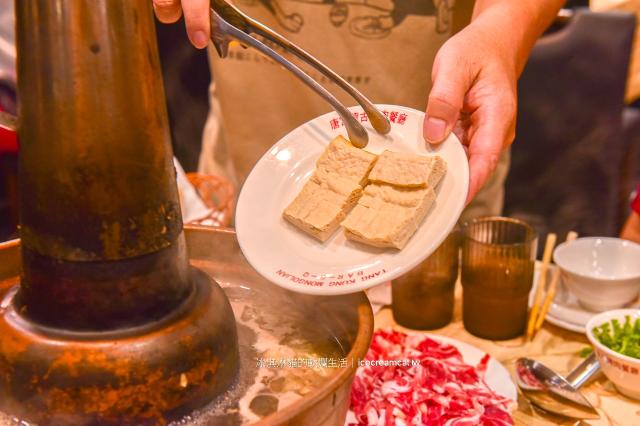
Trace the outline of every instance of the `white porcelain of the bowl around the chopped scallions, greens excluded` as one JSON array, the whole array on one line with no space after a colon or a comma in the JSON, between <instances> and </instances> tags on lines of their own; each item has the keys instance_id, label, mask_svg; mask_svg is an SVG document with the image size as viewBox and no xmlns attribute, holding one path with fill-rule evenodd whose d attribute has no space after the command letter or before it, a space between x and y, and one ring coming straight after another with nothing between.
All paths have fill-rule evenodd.
<instances>
[{"instance_id":1,"label":"white porcelain of the bowl around the chopped scallions, greens excluded","mask_svg":"<svg viewBox=\"0 0 640 426\"><path fill-rule=\"evenodd\" d=\"M612 319L620 321L620 325L625 324L625 317L629 316L633 325L637 318L640 318L640 310L637 309L616 309L598 313L587 322L587 338L600 361L600 368L616 386L618 391L630 398L640 399L640 359L609 349L593 335L593 328L599 327L605 322L611 323Z\"/></svg>"}]
</instances>

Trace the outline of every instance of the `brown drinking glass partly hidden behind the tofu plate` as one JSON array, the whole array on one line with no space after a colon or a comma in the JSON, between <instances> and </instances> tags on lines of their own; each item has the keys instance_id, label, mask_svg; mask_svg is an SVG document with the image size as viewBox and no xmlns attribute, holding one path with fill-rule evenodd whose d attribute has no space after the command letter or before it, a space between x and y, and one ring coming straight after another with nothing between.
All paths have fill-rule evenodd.
<instances>
[{"instance_id":1,"label":"brown drinking glass partly hidden behind the tofu plate","mask_svg":"<svg viewBox=\"0 0 640 426\"><path fill-rule=\"evenodd\" d=\"M391 281L391 308L397 324L433 330L451 322L459 258L460 230L456 227L425 260Z\"/></svg>"}]
</instances>

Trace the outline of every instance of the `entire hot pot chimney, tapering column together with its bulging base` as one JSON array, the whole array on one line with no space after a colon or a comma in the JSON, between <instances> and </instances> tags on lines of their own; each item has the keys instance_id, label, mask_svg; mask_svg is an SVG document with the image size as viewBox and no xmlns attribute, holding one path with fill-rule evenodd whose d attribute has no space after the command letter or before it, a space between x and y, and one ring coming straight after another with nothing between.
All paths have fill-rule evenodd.
<instances>
[{"instance_id":1,"label":"entire hot pot chimney, tapering column together with its bulging base","mask_svg":"<svg viewBox=\"0 0 640 426\"><path fill-rule=\"evenodd\" d=\"M0 410L175 420L239 361L224 292L189 265L151 2L15 12L22 274L0 308Z\"/></svg>"}]
</instances>

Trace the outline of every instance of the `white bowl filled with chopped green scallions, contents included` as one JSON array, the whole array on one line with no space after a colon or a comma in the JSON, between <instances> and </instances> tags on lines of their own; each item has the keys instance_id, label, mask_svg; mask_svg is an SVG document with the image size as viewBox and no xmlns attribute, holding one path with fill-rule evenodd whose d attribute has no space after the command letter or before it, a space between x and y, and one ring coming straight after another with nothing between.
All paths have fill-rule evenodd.
<instances>
[{"instance_id":1,"label":"white bowl filled with chopped green scallions, contents included","mask_svg":"<svg viewBox=\"0 0 640 426\"><path fill-rule=\"evenodd\" d=\"M598 313L586 333L607 379L621 394L640 399L640 310Z\"/></svg>"}]
</instances>

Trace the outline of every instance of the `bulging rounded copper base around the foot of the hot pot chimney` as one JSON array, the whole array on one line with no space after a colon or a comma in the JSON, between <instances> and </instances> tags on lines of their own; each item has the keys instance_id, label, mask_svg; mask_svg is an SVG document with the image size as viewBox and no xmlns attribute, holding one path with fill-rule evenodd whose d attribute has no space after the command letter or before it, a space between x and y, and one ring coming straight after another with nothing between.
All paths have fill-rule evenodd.
<instances>
[{"instance_id":1,"label":"bulging rounded copper base around the foot of the hot pot chimney","mask_svg":"<svg viewBox=\"0 0 640 426\"><path fill-rule=\"evenodd\" d=\"M19 278L3 272L0 411L41 426L161 425L224 393L239 368L236 323L220 286L192 269L196 290L171 315L102 333L24 317Z\"/></svg>"}]
</instances>

